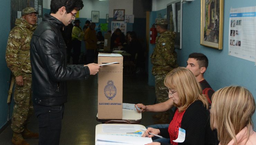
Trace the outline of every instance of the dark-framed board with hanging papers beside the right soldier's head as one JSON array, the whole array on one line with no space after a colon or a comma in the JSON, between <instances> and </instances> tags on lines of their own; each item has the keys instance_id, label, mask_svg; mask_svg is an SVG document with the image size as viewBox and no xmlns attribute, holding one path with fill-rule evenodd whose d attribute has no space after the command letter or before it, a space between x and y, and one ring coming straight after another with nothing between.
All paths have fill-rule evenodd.
<instances>
[{"instance_id":1,"label":"dark-framed board with hanging papers beside the right soldier's head","mask_svg":"<svg viewBox=\"0 0 256 145\"><path fill-rule=\"evenodd\" d=\"M182 47L182 1L175 0L167 4L168 30L176 32L174 47Z\"/></svg>"}]
</instances>

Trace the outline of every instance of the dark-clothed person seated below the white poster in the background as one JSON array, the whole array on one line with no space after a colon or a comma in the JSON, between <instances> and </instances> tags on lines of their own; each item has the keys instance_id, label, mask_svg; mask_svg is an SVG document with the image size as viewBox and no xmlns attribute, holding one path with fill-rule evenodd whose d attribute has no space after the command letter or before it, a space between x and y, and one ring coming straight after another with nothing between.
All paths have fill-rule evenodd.
<instances>
[{"instance_id":1,"label":"dark-clothed person seated below the white poster in the background","mask_svg":"<svg viewBox=\"0 0 256 145\"><path fill-rule=\"evenodd\" d=\"M119 28L117 28L115 32L113 32L113 34L111 35L110 49L122 46L124 42L125 35Z\"/></svg>"}]
</instances>

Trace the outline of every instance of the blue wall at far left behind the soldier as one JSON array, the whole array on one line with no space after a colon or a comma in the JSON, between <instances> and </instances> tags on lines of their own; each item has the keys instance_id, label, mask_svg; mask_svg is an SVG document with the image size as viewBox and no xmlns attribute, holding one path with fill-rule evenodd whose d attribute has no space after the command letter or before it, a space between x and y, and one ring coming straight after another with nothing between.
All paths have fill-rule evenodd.
<instances>
[{"instance_id":1,"label":"blue wall at far left behind the soldier","mask_svg":"<svg viewBox=\"0 0 256 145\"><path fill-rule=\"evenodd\" d=\"M11 71L6 66L5 61L5 50L6 44L8 40L8 35L10 32L10 16L11 16L11 2L10 1L1 1L0 4L0 19L1 27L0 27L0 128L4 124L7 123L7 113L8 113L8 105L7 105L7 96L9 90L9 84L7 81L10 79ZM13 109L13 100L10 107L10 117L12 115Z\"/></svg>"}]
</instances>

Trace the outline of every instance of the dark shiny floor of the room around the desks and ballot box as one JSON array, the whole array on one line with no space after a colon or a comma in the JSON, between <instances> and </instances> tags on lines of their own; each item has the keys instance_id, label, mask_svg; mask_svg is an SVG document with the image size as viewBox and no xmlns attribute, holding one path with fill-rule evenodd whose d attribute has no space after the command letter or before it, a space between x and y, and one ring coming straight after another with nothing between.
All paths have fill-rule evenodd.
<instances>
[{"instance_id":1,"label":"dark shiny floor of the room around the desks and ballot box","mask_svg":"<svg viewBox=\"0 0 256 145\"><path fill-rule=\"evenodd\" d=\"M93 145L95 126L100 124L97 115L97 75L85 81L68 82L68 102L65 104L60 145ZM147 75L124 76L123 102L153 104L155 89L147 85ZM141 125L152 125L155 113L143 113ZM30 118L29 129L38 132L37 118ZM0 145L11 145L10 125L0 134ZM37 145L38 139L26 139L31 145Z\"/></svg>"}]
</instances>

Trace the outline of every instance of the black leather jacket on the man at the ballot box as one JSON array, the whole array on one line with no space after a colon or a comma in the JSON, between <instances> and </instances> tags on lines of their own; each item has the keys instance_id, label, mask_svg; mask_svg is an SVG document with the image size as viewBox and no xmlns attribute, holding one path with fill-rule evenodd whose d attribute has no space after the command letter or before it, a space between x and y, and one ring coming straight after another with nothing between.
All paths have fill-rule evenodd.
<instances>
[{"instance_id":1,"label":"black leather jacket on the man at the ballot box","mask_svg":"<svg viewBox=\"0 0 256 145\"><path fill-rule=\"evenodd\" d=\"M66 45L61 35L64 24L45 14L30 42L33 102L61 105L67 101L67 80L83 80L90 70L83 65L67 66Z\"/></svg>"}]
</instances>

